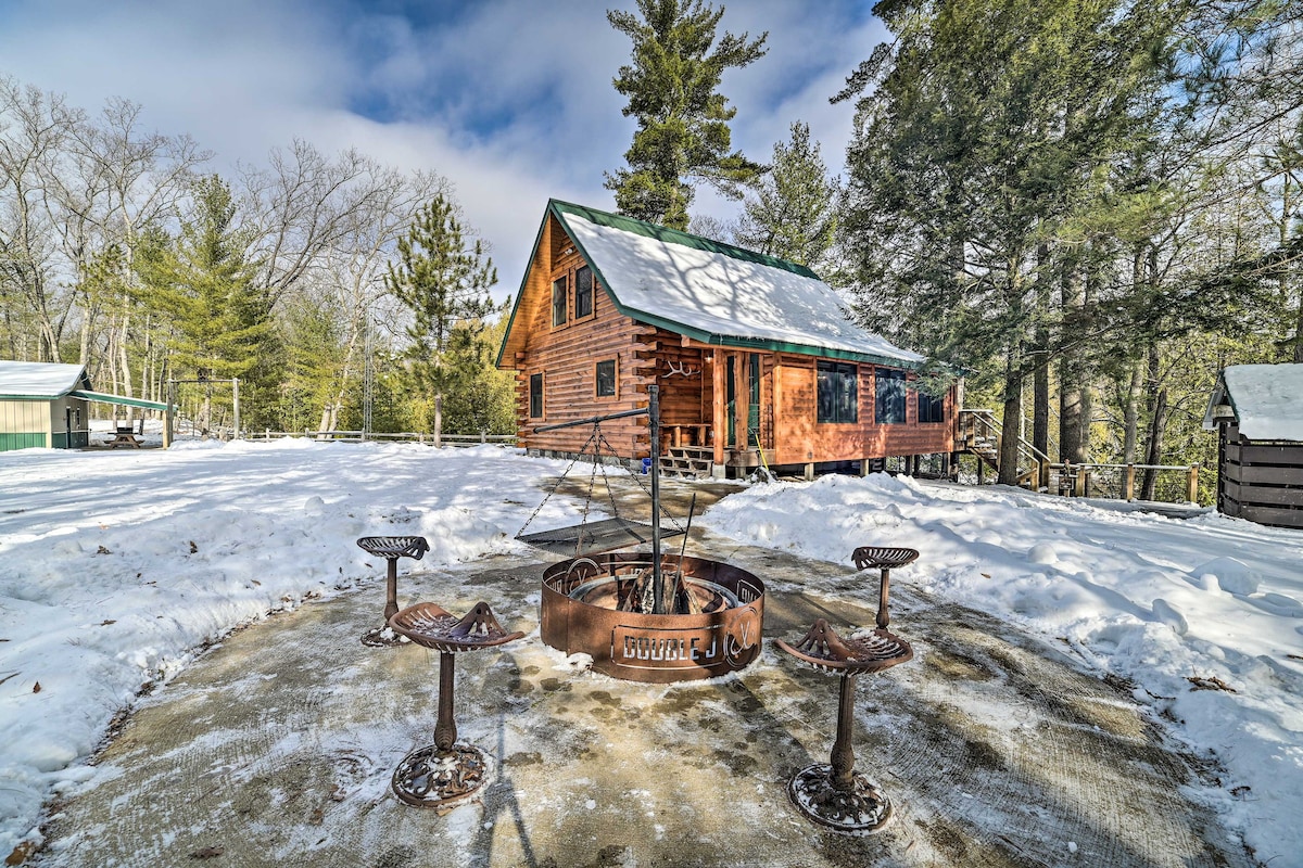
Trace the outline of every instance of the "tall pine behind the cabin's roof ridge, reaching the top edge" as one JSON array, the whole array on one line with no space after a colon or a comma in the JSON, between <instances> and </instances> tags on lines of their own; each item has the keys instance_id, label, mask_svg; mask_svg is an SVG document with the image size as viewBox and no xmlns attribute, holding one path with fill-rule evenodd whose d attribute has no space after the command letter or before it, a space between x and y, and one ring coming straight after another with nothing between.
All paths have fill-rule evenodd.
<instances>
[{"instance_id":1,"label":"tall pine behind the cabin's roof ridge, reaching the top edge","mask_svg":"<svg viewBox=\"0 0 1303 868\"><path fill-rule=\"evenodd\" d=\"M629 98L625 117L638 121L633 144L624 154L627 169L606 174L620 213L688 228L693 183L704 181L723 195L741 198L761 167L740 151L730 152L728 121L737 113L718 92L726 69L741 68L765 55L761 34L715 30L717 12L704 0L637 0L641 18L607 10L611 26L633 42L633 64L620 66L615 90ZM713 48L711 48L713 47Z\"/></svg>"}]
</instances>

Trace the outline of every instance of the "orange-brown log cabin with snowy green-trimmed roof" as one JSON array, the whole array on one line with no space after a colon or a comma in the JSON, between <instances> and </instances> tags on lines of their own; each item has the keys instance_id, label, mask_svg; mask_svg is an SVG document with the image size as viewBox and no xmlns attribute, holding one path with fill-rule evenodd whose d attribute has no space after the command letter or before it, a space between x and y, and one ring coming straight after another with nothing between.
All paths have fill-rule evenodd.
<instances>
[{"instance_id":1,"label":"orange-brown log cabin with snowy green-trimmed roof","mask_svg":"<svg viewBox=\"0 0 1303 868\"><path fill-rule=\"evenodd\" d=\"M662 468L717 478L949 455L958 388L917 388L924 362L851 321L804 265L555 199L498 355L530 454L582 452L589 428L536 428L644 407L657 384ZM649 429L602 426L629 466Z\"/></svg>"}]
</instances>

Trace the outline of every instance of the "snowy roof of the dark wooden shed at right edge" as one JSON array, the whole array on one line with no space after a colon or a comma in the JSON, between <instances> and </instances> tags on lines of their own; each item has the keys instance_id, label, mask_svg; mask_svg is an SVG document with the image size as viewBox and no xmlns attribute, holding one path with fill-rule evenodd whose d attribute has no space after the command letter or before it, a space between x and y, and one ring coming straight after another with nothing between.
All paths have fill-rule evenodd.
<instances>
[{"instance_id":1,"label":"snowy roof of the dark wooden shed at right edge","mask_svg":"<svg viewBox=\"0 0 1303 868\"><path fill-rule=\"evenodd\" d=\"M1303 364L1233 364L1221 373L1209 402L1225 396L1239 433L1250 440L1303 441Z\"/></svg>"}]
</instances>

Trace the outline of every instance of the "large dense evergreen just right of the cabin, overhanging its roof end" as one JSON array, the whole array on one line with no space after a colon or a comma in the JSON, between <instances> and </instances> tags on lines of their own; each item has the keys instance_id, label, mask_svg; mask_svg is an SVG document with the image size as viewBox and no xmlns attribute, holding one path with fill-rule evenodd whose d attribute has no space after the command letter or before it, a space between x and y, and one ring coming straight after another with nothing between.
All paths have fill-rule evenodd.
<instances>
[{"instance_id":1,"label":"large dense evergreen just right of the cabin, overhanging its roof end","mask_svg":"<svg viewBox=\"0 0 1303 868\"><path fill-rule=\"evenodd\" d=\"M1055 347L1098 334L1108 311L1084 210L1117 208L1110 164L1152 133L1174 39L1165 7L1121 1L885 0L896 33L838 98L866 91L848 151L860 314L959 367L1024 377ZM1054 292L1057 290L1057 292ZM1055 297L1066 305L1052 308ZM1075 318L1068 325L1067 320ZM1012 429L1012 428L1011 428ZM1002 440L1001 481L1016 476Z\"/></svg>"}]
</instances>

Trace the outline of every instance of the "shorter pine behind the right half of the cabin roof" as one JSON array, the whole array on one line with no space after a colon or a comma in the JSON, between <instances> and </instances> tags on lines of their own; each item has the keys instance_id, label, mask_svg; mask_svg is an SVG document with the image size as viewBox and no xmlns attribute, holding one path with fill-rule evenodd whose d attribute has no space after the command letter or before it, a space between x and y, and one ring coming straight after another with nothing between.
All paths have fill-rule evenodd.
<instances>
[{"instance_id":1,"label":"shorter pine behind the right half of the cabin roof","mask_svg":"<svg viewBox=\"0 0 1303 868\"><path fill-rule=\"evenodd\" d=\"M770 170L747 197L737 243L821 271L837 236L840 182L827 177L818 142L796 121L787 143L774 144Z\"/></svg>"}]
</instances>

